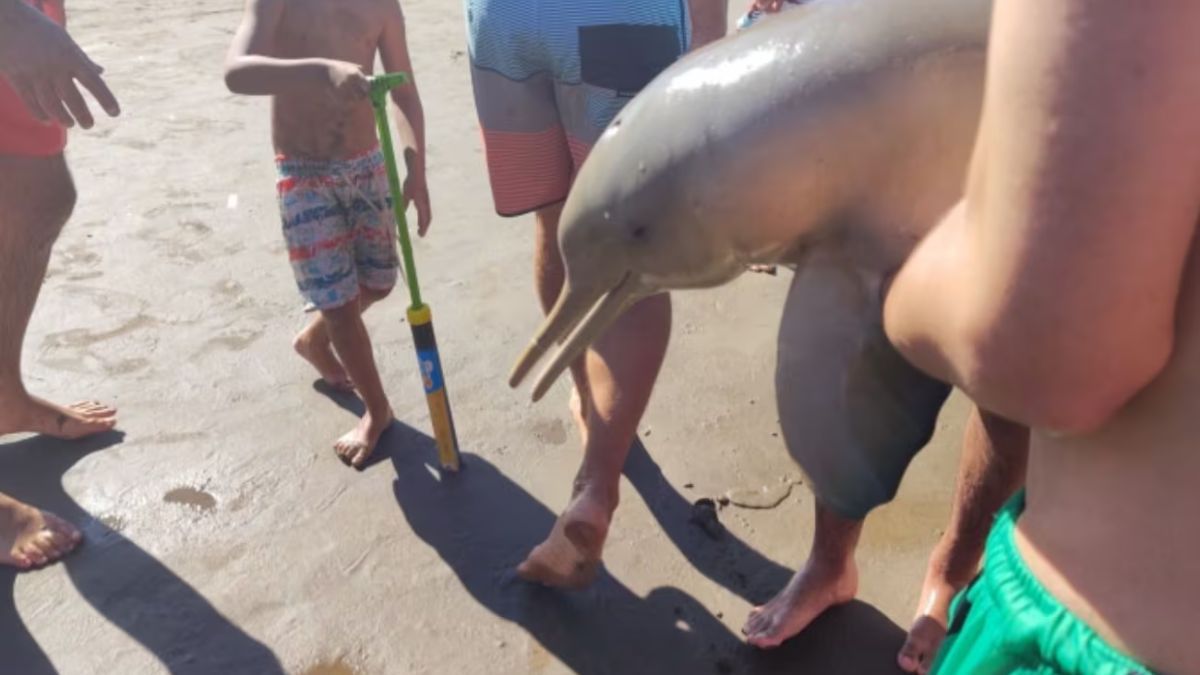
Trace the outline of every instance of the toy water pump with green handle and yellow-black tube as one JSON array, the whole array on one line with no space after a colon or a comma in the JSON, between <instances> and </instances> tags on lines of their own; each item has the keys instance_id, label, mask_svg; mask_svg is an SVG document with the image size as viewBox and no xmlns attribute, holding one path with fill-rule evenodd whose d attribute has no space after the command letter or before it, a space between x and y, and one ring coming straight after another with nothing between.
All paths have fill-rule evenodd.
<instances>
[{"instance_id":1,"label":"toy water pump with green handle and yellow-black tube","mask_svg":"<svg viewBox=\"0 0 1200 675\"><path fill-rule=\"evenodd\" d=\"M421 368L421 380L425 382L425 401L430 405L433 437L438 443L438 461L446 471L458 471L462 466L462 456L458 454L458 435L454 429L450 396L446 394L445 377L442 375L438 341L433 335L433 315L430 312L430 306L421 301L421 288L416 282L413 241L408 238L408 220L404 217L404 193L400 187L396 153L391 145L391 129L388 126L388 92L407 82L408 76L402 72L372 77L371 106L376 113L376 126L379 127L379 147L388 165L391 205L392 210L396 211L396 231L400 235L400 250L404 256L408 295L412 300L408 307L408 324L413 328L413 346L416 348L416 360Z\"/></svg>"}]
</instances>

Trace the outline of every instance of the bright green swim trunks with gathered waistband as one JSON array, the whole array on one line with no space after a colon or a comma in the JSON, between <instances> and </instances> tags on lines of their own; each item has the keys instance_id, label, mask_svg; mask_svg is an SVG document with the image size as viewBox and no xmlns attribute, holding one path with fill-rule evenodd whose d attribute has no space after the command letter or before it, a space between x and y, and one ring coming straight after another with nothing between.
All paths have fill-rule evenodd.
<instances>
[{"instance_id":1,"label":"bright green swim trunks with gathered waistband","mask_svg":"<svg viewBox=\"0 0 1200 675\"><path fill-rule=\"evenodd\" d=\"M1067 610L1025 566L1013 527L1018 492L996 515L983 572L950 607L934 675L1152 675Z\"/></svg>"}]
</instances>

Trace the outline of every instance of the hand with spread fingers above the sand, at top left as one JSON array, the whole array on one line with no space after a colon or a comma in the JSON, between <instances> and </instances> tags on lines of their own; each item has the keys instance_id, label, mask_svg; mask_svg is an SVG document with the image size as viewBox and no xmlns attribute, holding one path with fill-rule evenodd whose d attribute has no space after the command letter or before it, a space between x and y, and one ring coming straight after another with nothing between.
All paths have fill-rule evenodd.
<instances>
[{"instance_id":1,"label":"hand with spread fingers above the sand, at top left","mask_svg":"<svg viewBox=\"0 0 1200 675\"><path fill-rule=\"evenodd\" d=\"M62 126L91 129L95 120L76 80L83 84L109 117L121 107L100 73L104 68L83 53L67 31L24 2L0 16L0 74L4 74L30 114Z\"/></svg>"}]
</instances>

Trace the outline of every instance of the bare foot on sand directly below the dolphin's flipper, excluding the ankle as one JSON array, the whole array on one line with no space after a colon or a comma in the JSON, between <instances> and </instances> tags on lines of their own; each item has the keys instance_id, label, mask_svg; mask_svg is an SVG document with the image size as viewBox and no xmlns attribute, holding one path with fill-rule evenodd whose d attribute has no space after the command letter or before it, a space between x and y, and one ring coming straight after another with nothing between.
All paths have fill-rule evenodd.
<instances>
[{"instance_id":1,"label":"bare foot on sand directly below the dolphin's flipper, excluding the ankle","mask_svg":"<svg viewBox=\"0 0 1200 675\"><path fill-rule=\"evenodd\" d=\"M778 596L750 613L742 634L756 647L778 647L824 610L854 599L857 592L858 567L853 561L834 566L809 560Z\"/></svg>"}]
</instances>

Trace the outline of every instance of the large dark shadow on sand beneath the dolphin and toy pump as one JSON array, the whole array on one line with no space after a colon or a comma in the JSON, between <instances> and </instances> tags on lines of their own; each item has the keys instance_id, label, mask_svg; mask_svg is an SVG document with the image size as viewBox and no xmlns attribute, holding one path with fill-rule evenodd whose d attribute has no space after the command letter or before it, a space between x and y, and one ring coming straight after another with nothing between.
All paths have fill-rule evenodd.
<instances>
[{"instance_id":1,"label":"large dark shadow on sand beneath the dolphin and toy pump","mask_svg":"<svg viewBox=\"0 0 1200 675\"><path fill-rule=\"evenodd\" d=\"M550 532L554 513L492 464L466 455L458 476L438 477L433 438L401 423L376 453L390 459L395 494L413 531L450 566L476 602L522 626L582 675L739 673L894 673L904 631L875 608L834 609L784 647L748 647L684 591L662 586L642 598L602 573L584 592L552 591L516 579L514 567ZM790 572L732 533L714 542L688 522L690 504L661 476L641 443L626 473L667 537L706 577L761 602ZM666 580L665 580L666 581Z\"/></svg>"}]
</instances>

